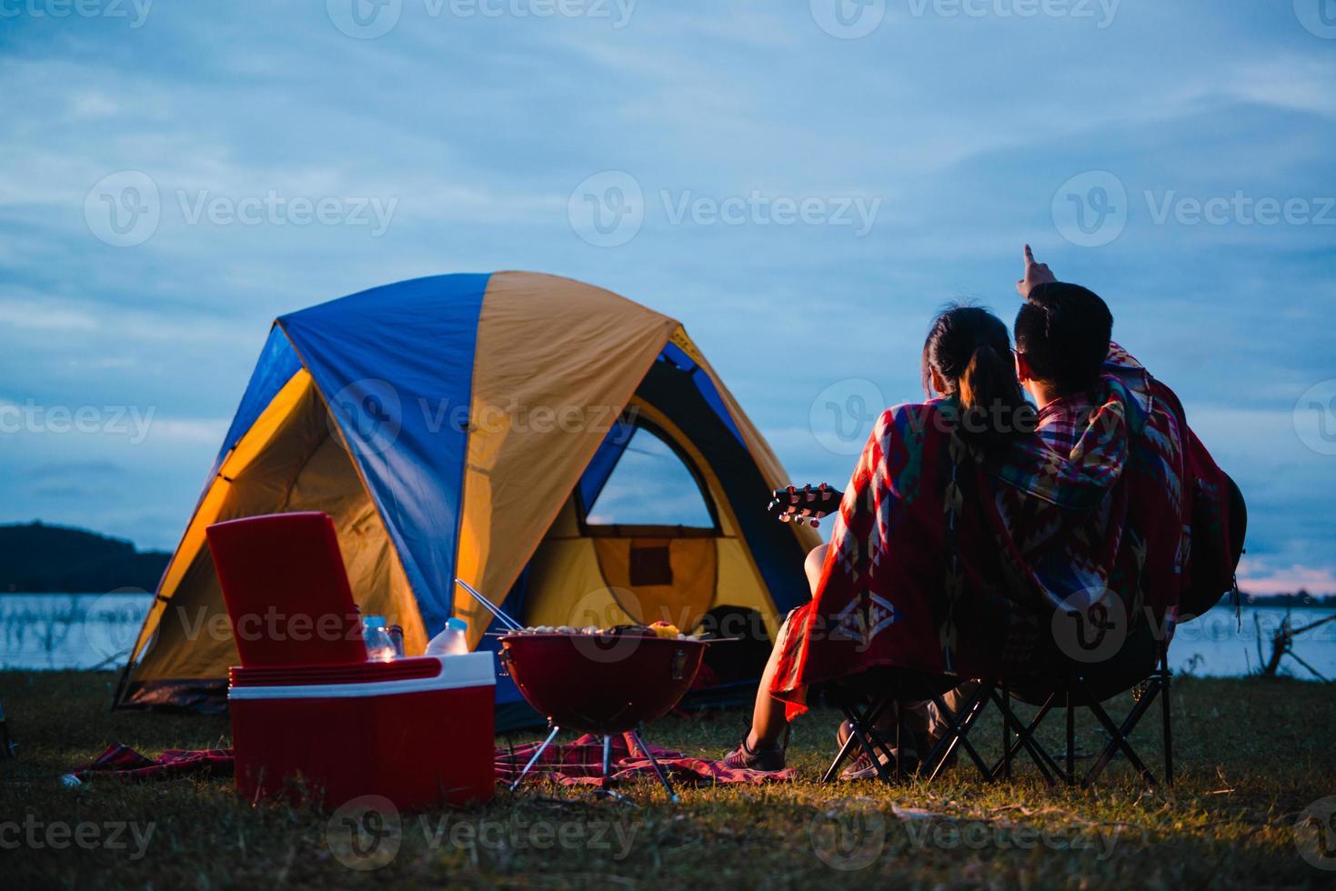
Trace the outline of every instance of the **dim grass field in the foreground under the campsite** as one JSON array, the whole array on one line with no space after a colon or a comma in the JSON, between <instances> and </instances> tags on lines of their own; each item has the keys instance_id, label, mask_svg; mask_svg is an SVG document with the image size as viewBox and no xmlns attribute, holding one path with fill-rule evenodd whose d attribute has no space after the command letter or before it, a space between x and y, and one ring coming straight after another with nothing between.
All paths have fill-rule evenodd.
<instances>
[{"instance_id":1,"label":"dim grass field in the foreground under the campsite","mask_svg":"<svg viewBox=\"0 0 1336 891\"><path fill-rule=\"evenodd\" d=\"M795 783L684 789L679 806L648 783L629 787L635 804L556 787L502 791L485 807L405 814L374 856L358 859L327 834L330 815L251 807L230 780L64 788L61 773L112 741L150 755L228 743L226 717L108 712L112 681L0 673L19 741L19 756L0 760L5 888L1336 887L1336 858L1321 858L1317 835L1336 839L1336 824L1295 828L1309 806L1327 815L1336 804L1320 801L1336 796L1336 696L1319 684L1176 681L1172 791L1145 789L1121 761L1089 791L1047 788L1029 765L1010 784L961 767L931 787L822 785L836 717L818 711L794 732ZM1121 697L1110 711L1128 707ZM1134 737L1153 767L1157 716ZM743 720L740 711L672 717L651 736L717 757ZM1078 751L1097 749L1093 721L1078 727ZM975 736L995 745L999 732L981 725Z\"/></svg>"}]
</instances>

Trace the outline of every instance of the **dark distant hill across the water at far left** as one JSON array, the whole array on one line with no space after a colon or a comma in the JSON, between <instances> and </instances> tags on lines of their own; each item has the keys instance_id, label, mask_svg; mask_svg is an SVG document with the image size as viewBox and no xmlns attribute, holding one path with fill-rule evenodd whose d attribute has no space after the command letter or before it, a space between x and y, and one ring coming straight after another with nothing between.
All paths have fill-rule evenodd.
<instances>
[{"instance_id":1,"label":"dark distant hill across the water at far left","mask_svg":"<svg viewBox=\"0 0 1336 891\"><path fill-rule=\"evenodd\" d=\"M0 526L0 592L155 590L170 557L87 529L40 522Z\"/></svg>"}]
</instances>

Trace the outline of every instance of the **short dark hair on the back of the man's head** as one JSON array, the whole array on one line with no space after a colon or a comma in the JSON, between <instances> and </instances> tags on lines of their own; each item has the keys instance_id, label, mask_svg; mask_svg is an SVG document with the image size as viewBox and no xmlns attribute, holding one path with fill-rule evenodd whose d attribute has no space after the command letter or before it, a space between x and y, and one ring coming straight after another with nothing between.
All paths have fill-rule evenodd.
<instances>
[{"instance_id":1,"label":"short dark hair on the back of the man's head","mask_svg":"<svg viewBox=\"0 0 1336 891\"><path fill-rule=\"evenodd\" d=\"M1094 386L1109 355L1113 314L1079 285L1037 285L1015 317L1015 349L1055 395Z\"/></svg>"}]
</instances>

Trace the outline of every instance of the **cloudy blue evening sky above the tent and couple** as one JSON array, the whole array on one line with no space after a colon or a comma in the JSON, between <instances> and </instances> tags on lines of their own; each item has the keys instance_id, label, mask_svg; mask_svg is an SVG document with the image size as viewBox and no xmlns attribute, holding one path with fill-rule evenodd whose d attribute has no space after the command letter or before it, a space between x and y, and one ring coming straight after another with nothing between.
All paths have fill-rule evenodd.
<instances>
[{"instance_id":1,"label":"cloudy blue evening sky above the tent and couple","mask_svg":"<svg viewBox=\"0 0 1336 891\"><path fill-rule=\"evenodd\" d=\"M840 484L852 460L808 429L816 394L866 378L887 402L916 398L933 311L967 297L1009 315L1030 240L1110 299L1120 338L1188 403L1255 509L1249 556L1285 572L1336 566L1323 501L1336 462L1303 450L1291 421L1299 393L1331 377L1329 230L1154 226L1142 204L1120 239L1086 250L1050 211L1085 170L1114 171L1136 200L1148 188L1329 194L1336 59L1289 4L1124 4L1105 29L888 4L862 40L823 33L802 0L640 3L624 28L424 21L421 4L405 4L399 27L367 41L339 33L322 5L158 4L138 29L7 20L0 389L17 405L156 413L142 448L0 442L5 512L168 541L273 318L489 269L570 275L683 319L790 472ZM118 170L146 171L163 200L158 231L134 248L99 242L84 219L90 187ZM565 210L600 170L632 172L653 202L660 190L759 190L883 204L866 238L657 215L600 250ZM202 190L398 206L379 238L190 224L178 195ZM795 346L818 338L835 346ZM134 510L80 513L4 480L99 460L142 493Z\"/></svg>"}]
</instances>

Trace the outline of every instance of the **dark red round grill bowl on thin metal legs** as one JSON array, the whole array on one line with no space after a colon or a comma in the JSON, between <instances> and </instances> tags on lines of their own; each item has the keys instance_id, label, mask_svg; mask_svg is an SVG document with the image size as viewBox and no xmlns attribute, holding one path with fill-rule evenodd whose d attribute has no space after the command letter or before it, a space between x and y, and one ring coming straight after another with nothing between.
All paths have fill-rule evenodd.
<instances>
[{"instance_id":1,"label":"dark red round grill bowl on thin metal legs","mask_svg":"<svg viewBox=\"0 0 1336 891\"><path fill-rule=\"evenodd\" d=\"M552 724L609 735L671 712L696 679L705 645L633 635L508 635L501 661Z\"/></svg>"}]
</instances>

